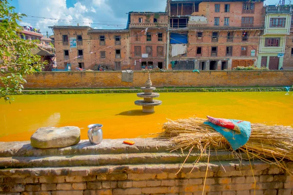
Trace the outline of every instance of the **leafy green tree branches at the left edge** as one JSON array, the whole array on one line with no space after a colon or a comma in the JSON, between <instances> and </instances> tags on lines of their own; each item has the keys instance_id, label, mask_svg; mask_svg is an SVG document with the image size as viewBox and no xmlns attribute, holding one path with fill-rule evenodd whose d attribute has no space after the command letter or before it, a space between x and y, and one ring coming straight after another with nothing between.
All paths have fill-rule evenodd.
<instances>
[{"instance_id":1,"label":"leafy green tree branches at the left edge","mask_svg":"<svg viewBox=\"0 0 293 195\"><path fill-rule=\"evenodd\" d=\"M0 98L12 100L11 95L21 93L26 75L42 70L46 62L33 55L39 40L21 39L21 21L24 14L14 12L8 0L0 0Z\"/></svg>"}]
</instances>

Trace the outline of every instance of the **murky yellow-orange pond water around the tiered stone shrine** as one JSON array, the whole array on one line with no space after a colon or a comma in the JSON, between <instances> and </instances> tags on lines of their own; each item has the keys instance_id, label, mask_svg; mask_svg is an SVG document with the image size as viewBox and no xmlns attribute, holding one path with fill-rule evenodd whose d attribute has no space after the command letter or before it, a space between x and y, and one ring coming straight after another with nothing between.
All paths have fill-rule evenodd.
<instances>
[{"instance_id":1,"label":"murky yellow-orange pond water around the tiered stone shrine","mask_svg":"<svg viewBox=\"0 0 293 195\"><path fill-rule=\"evenodd\" d=\"M161 93L155 113L135 106L136 94L21 95L11 104L0 99L0 141L29 140L40 127L104 125L104 138L150 137L166 118L224 117L293 126L293 93Z\"/></svg>"}]
</instances>

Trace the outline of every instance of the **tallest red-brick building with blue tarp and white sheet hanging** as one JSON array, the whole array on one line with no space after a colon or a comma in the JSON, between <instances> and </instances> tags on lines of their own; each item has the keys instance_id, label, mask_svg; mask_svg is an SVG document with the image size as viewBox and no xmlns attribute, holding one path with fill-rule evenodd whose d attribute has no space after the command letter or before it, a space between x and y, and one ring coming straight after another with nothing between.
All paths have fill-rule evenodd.
<instances>
[{"instance_id":1,"label":"tallest red-brick building with blue tarp and white sheet hanging","mask_svg":"<svg viewBox=\"0 0 293 195\"><path fill-rule=\"evenodd\" d=\"M224 70L256 65L264 29L263 1L168 0L171 48L186 52L169 58L173 69ZM171 52L173 53L173 51ZM176 53L175 53L176 54Z\"/></svg>"}]
</instances>

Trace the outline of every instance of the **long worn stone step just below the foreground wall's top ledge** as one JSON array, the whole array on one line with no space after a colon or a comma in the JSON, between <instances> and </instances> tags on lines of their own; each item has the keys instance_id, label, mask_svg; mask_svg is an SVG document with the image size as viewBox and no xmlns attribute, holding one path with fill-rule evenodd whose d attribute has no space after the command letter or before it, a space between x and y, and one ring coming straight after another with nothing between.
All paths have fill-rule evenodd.
<instances>
[{"instance_id":1,"label":"long worn stone step just below the foreground wall's top ledge","mask_svg":"<svg viewBox=\"0 0 293 195\"><path fill-rule=\"evenodd\" d=\"M241 154L242 158L247 158ZM66 167L66 166L103 166L121 164L164 164L183 163L187 157L185 153L134 153L134 154L102 154L77 156L10 156L0 157L0 169L20 167ZM228 151L211 151L209 161L238 159ZM190 153L187 163L205 162L208 154L200 152Z\"/></svg>"}]
</instances>

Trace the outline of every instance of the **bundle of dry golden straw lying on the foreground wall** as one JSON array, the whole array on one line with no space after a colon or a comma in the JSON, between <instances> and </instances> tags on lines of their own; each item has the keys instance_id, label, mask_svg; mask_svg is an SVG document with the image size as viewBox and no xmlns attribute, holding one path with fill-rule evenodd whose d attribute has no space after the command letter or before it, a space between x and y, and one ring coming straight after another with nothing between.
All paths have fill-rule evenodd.
<instances>
[{"instance_id":1,"label":"bundle of dry golden straw lying on the foreground wall","mask_svg":"<svg viewBox=\"0 0 293 195\"><path fill-rule=\"evenodd\" d=\"M163 131L159 133L158 138L171 141L172 151L195 149L203 154L210 147L223 146L228 146L227 150L232 151L229 142L212 127L204 124L205 121L207 120L192 117L176 121L168 120L164 123ZM276 163L286 169L284 160L293 161L293 128L252 123L251 137L239 150L246 153L249 158Z\"/></svg>"}]
</instances>

